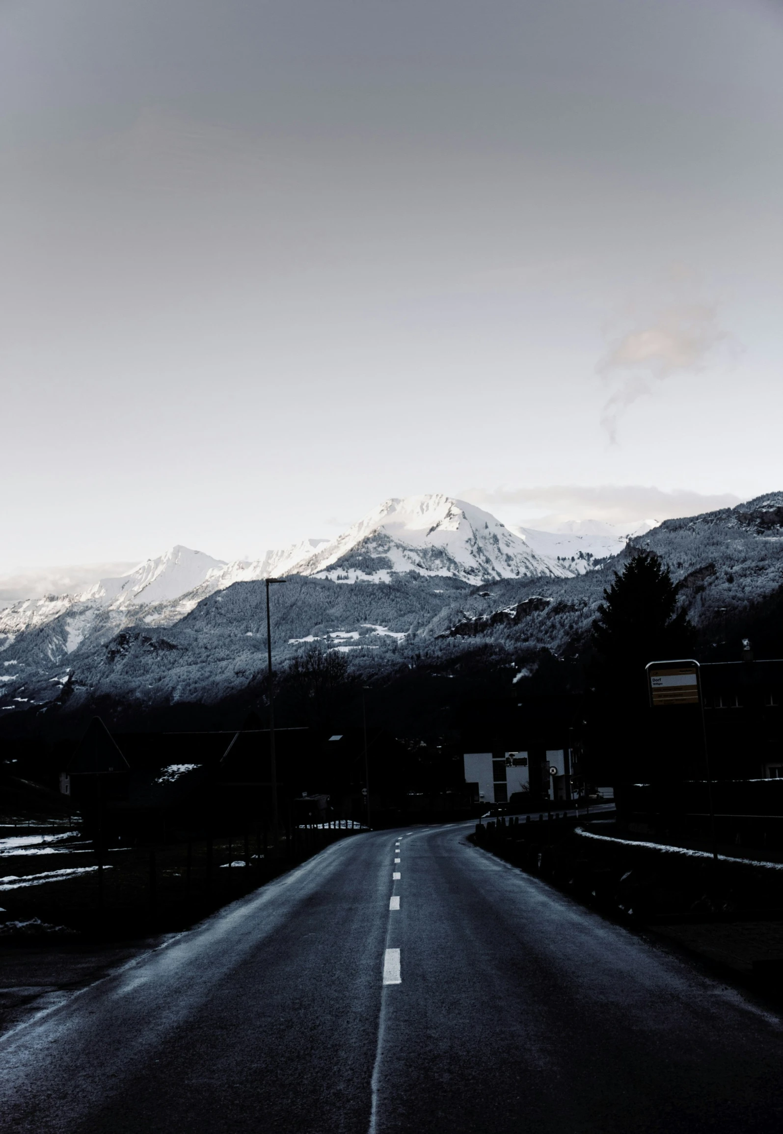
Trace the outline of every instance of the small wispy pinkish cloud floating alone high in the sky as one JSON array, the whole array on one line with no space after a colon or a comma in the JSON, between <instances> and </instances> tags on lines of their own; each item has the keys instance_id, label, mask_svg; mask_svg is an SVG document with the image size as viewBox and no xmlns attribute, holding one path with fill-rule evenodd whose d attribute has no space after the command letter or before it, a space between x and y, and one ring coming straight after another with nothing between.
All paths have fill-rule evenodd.
<instances>
[{"instance_id":1,"label":"small wispy pinkish cloud floating alone high in the sky","mask_svg":"<svg viewBox=\"0 0 783 1134\"><path fill-rule=\"evenodd\" d=\"M615 383L601 412L601 425L609 440L616 443L620 418L634 401L653 392L654 381L701 370L725 338L715 307L691 303L665 308L648 325L613 342L596 364L596 373Z\"/></svg>"}]
</instances>

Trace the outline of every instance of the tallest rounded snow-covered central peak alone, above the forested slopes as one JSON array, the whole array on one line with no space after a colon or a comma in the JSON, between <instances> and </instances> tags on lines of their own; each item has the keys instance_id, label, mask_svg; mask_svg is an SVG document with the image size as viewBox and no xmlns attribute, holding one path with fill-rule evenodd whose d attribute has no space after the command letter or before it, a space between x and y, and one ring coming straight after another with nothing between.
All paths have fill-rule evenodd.
<instances>
[{"instance_id":1,"label":"tallest rounded snow-covered central peak alone, above the forested slopes","mask_svg":"<svg viewBox=\"0 0 783 1134\"><path fill-rule=\"evenodd\" d=\"M385 500L295 572L345 583L388 582L401 572L465 583L573 574L488 511L443 493Z\"/></svg>"}]
</instances>

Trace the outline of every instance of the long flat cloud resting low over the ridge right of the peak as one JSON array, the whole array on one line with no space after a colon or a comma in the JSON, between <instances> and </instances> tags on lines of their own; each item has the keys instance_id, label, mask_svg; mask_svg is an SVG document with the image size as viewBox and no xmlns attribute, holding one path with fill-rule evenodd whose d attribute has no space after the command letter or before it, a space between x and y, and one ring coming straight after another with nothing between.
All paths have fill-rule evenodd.
<instances>
[{"instance_id":1,"label":"long flat cloud resting low over the ridge right of the peak","mask_svg":"<svg viewBox=\"0 0 783 1134\"><path fill-rule=\"evenodd\" d=\"M601 519L622 524L640 519L672 519L731 508L740 498L731 492L702 493L691 489L665 491L641 484L553 484L546 488L470 489L465 500L492 511L524 506L525 511L557 513L567 519Z\"/></svg>"}]
</instances>

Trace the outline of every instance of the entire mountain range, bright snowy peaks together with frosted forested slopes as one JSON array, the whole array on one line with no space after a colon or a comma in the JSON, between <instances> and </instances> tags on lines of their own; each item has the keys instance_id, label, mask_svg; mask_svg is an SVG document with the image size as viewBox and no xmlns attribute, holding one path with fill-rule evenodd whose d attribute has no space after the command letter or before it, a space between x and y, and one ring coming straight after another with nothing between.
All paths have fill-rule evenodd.
<instances>
[{"instance_id":1,"label":"entire mountain range, bright snowy peaks together with frosted forested slopes","mask_svg":"<svg viewBox=\"0 0 783 1134\"><path fill-rule=\"evenodd\" d=\"M416 497L386 501L338 540L255 564L224 565L179 549L92 599L43 600L35 625L15 641L0 635L0 720L86 711L94 699L134 704L143 714L155 705L249 696L266 674L266 587L258 579L270 569L288 575L271 595L281 674L315 644L380 674L406 661L415 667L422 657L427 666L458 660L480 642L506 659L511 682L512 662L534 662L541 650L580 651L614 572L645 548L672 570L697 627L733 619L739 633L759 602L783 594L783 493L665 521L593 570L547 558L528 541L601 533L524 534L448 497ZM563 547L548 544L561 556ZM188 581L195 562L208 568L197 586L144 601L150 582L158 581L154 595L171 594L172 579ZM348 579L356 585L344 585Z\"/></svg>"}]
</instances>

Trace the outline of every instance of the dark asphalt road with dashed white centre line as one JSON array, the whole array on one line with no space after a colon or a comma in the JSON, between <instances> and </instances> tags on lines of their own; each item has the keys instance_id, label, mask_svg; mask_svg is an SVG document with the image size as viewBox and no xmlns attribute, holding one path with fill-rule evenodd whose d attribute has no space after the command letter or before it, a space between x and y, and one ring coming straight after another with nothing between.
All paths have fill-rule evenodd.
<instances>
[{"instance_id":1,"label":"dark asphalt road with dashed white centre line","mask_svg":"<svg viewBox=\"0 0 783 1134\"><path fill-rule=\"evenodd\" d=\"M775 1013L469 830L335 844L9 1033L3 1134L782 1128Z\"/></svg>"}]
</instances>

